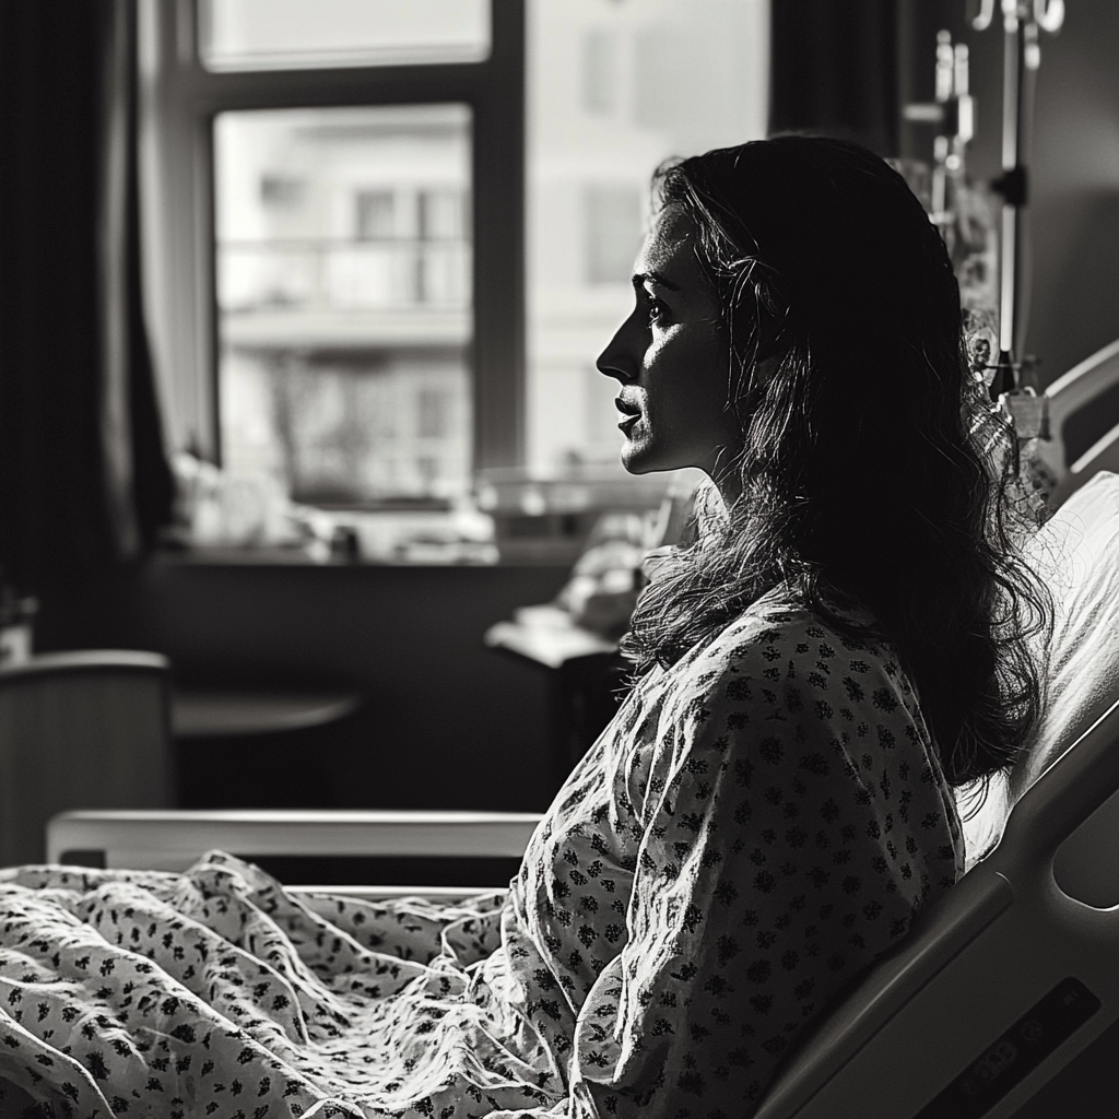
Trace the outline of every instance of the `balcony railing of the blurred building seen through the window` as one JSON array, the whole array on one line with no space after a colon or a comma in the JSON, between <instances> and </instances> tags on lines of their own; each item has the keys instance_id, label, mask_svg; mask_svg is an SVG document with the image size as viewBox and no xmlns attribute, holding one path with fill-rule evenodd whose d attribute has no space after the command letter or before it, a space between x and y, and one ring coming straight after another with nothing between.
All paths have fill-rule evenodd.
<instances>
[{"instance_id":1,"label":"balcony railing of the blurred building seen through the window","mask_svg":"<svg viewBox=\"0 0 1119 1119\"><path fill-rule=\"evenodd\" d=\"M458 238L224 241L223 311L466 310L470 244Z\"/></svg>"}]
</instances>

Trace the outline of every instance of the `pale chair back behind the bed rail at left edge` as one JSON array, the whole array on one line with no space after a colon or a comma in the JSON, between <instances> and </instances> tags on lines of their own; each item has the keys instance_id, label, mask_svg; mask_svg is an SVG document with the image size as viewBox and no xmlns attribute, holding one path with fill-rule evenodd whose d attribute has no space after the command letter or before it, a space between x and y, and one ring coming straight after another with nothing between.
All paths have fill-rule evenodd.
<instances>
[{"instance_id":1,"label":"pale chair back behind the bed rail at left edge","mask_svg":"<svg viewBox=\"0 0 1119 1119\"><path fill-rule=\"evenodd\" d=\"M0 669L0 865L39 862L66 809L170 803L168 662L56 652Z\"/></svg>"}]
</instances>

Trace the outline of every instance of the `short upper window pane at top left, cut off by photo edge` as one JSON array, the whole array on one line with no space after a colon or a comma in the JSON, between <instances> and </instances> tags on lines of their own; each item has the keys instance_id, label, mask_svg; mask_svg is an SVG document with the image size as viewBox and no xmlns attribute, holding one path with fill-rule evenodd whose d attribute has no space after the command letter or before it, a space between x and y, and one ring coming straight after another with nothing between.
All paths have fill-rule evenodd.
<instances>
[{"instance_id":1,"label":"short upper window pane at top left, cut off by photo edge","mask_svg":"<svg viewBox=\"0 0 1119 1119\"><path fill-rule=\"evenodd\" d=\"M474 62L489 0L199 0L210 69Z\"/></svg>"}]
</instances>

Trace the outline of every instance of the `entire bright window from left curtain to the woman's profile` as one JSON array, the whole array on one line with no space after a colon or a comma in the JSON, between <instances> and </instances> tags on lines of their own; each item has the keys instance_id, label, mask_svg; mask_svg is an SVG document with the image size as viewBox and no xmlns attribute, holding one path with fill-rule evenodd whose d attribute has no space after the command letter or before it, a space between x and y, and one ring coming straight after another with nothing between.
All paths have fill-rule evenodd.
<instances>
[{"instance_id":1,"label":"entire bright window from left curtain to the woman's profile","mask_svg":"<svg viewBox=\"0 0 1119 1119\"><path fill-rule=\"evenodd\" d=\"M628 313L649 177L763 134L768 0L142 11L178 446L321 506L615 480L593 361Z\"/></svg>"}]
</instances>

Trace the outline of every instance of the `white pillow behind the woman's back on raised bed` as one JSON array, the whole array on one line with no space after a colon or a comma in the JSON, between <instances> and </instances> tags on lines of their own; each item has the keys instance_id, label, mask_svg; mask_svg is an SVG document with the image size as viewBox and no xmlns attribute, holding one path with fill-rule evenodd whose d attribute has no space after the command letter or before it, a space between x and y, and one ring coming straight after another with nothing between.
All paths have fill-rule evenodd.
<instances>
[{"instance_id":1,"label":"white pillow behind the woman's back on raised bed","mask_svg":"<svg viewBox=\"0 0 1119 1119\"><path fill-rule=\"evenodd\" d=\"M1008 777L978 810L960 798L967 865L1003 833L1010 806L1119 698L1119 474L1076 490L1025 548L1053 593L1045 714Z\"/></svg>"}]
</instances>

